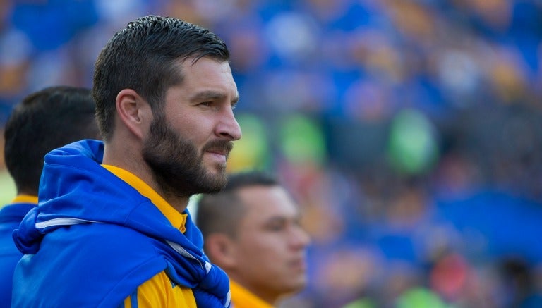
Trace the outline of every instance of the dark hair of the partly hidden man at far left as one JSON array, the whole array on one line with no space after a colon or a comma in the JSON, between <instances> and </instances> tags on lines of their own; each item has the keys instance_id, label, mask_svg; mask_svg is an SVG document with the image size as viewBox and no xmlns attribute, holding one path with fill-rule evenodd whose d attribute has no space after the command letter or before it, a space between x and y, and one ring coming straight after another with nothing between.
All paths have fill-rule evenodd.
<instances>
[{"instance_id":1,"label":"dark hair of the partly hidden man at far left","mask_svg":"<svg viewBox=\"0 0 542 308\"><path fill-rule=\"evenodd\" d=\"M29 94L4 130L4 158L18 193L37 195L47 152L99 135L90 89L57 86Z\"/></svg>"}]
</instances>

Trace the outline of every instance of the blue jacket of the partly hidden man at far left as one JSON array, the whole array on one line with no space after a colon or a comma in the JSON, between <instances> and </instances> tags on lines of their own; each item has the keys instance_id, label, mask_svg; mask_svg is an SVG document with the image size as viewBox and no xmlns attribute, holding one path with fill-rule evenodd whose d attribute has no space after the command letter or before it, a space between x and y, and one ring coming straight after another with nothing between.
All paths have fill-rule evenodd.
<instances>
[{"instance_id":1,"label":"blue jacket of the partly hidden man at far left","mask_svg":"<svg viewBox=\"0 0 542 308\"><path fill-rule=\"evenodd\" d=\"M7 204L0 210L0 307L10 307L13 270L23 254L13 243L11 234L34 203Z\"/></svg>"}]
</instances>

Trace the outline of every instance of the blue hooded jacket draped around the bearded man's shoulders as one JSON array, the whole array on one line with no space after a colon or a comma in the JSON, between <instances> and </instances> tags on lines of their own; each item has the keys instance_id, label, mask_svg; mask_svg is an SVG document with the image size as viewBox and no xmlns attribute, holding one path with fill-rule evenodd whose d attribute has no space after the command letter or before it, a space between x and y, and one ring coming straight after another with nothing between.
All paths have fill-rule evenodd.
<instances>
[{"instance_id":1,"label":"blue hooded jacket draped around the bearded man's shoulders","mask_svg":"<svg viewBox=\"0 0 542 308\"><path fill-rule=\"evenodd\" d=\"M202 252L200 230L183 234L133 187L100 166L103 144L82 140L45 156L39 207L13 232L25 255L13 275L13 307L117 307L166 271L193 288L198 307L229 307L229 281Z\"/></svg>"}]
</instances>

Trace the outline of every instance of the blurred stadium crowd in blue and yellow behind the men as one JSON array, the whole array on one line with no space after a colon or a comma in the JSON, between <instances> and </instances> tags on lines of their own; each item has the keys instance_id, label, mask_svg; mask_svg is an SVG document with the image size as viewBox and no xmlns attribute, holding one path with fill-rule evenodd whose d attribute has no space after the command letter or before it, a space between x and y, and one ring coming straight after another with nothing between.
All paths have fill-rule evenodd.
<instances>
[{"instance_id":1,"label":"blurred stadium crowd in blue and yellow behind the men","mask_svg":"<svg viewBox=\"0 0 542 308\"><path fill-rule=\"evenodd\" d=\"M230 170L279 174L313 237L284 307L542 307L542 1L2 0L0 123L149 13L230 48Z\"/></svg>"}]
</instances>

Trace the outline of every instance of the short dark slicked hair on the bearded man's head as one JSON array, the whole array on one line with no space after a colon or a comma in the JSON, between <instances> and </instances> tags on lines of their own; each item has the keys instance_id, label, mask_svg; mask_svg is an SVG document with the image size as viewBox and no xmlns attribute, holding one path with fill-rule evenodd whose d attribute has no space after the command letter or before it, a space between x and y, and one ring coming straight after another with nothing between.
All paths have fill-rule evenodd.
<instances>
[{"instance_id":1,"label":"short dark slicked hair on the bearded man's head","mask_svg":"<svg viewBox=\"0 0 542 308\"><path fill-rule=\"evenodd\" d=\"M104 141L112 136L116 95L132 89L162 111L169 87L180 85L179 61L229 61L226 44L209 30L172 17L145 16L116 32L97 58L92 95Z\"/></svg>"}]
</instances>

